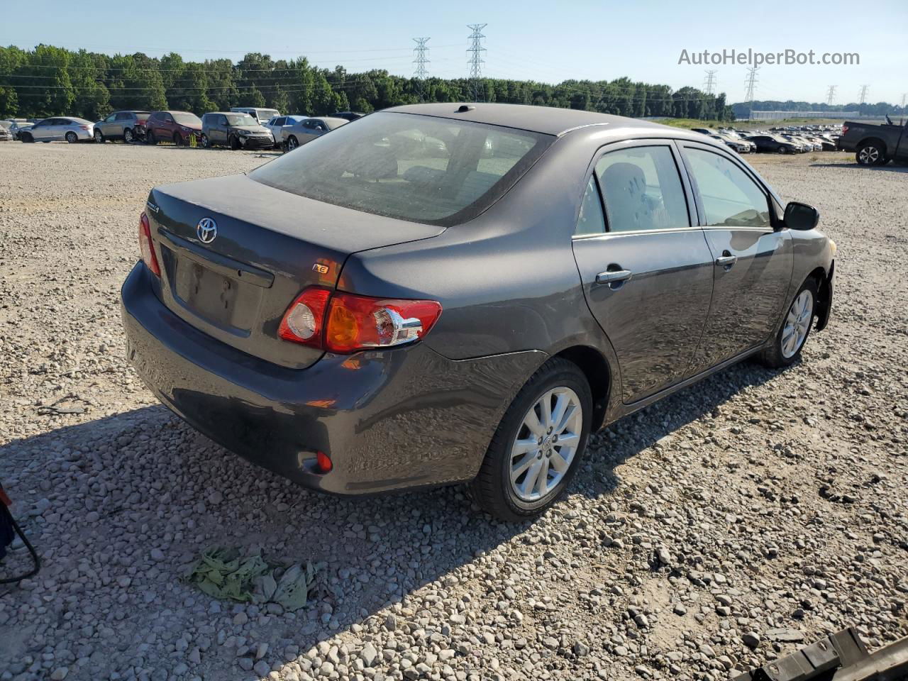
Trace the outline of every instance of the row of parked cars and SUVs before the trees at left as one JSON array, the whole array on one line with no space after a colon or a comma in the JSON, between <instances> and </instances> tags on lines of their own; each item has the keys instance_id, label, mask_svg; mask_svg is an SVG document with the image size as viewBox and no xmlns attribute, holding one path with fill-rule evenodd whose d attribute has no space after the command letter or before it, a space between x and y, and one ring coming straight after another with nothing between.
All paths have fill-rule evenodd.
<instances>
[{"instance_id":1,"label":"row of parked cars and SUVs before the trees at left","mask_svg":"<svg viewBox=\"0 0 908 681\"><path fill-rule=\"evenodd\" d=\"M115 111L103 121L92 123L76 116L57 116L44 120L15 119L0 121L0 141L8 136L21 142L70 143L143 142L156 144L194 143L202 147L225 146L231 149L271 149L292 151L363 114L339 112L331 116L281 115L274 109L234 107L230 111L209 112L199 118L186 111ZM6 124L4 124L6 123Z\"/></svg>"}]
</instances>

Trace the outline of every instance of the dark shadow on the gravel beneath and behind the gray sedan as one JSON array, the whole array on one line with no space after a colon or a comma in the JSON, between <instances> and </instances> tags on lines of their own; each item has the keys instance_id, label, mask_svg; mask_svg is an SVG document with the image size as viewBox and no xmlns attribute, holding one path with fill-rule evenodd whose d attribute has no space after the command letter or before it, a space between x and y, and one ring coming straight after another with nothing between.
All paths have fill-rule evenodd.
<instances>
[{"instance_id":1,"label":"dark shadow on the gravel beneath and behind the gray sedan","mask_svg":"<svg viewBox=\"0 0 908 681\"><path fill-rule=\"evenodd\" d=\"M576 495L607 504L627 492L617 471L624 461L674 437L686 424L712 419L732 396L778 373L738 364L600 430L568 498L542 518L516 524L479 512L463 486L370 498L301 489L222 449L161 406L11 441L0 447L0 479L38 551L53 547L39 578L56 580L73 600L70 609L79 611L79 601L92 597L94 587L70 583L73 575L82 579L86 563L112 583L120 576L132 579L116 623L123 656L100 661L96 676L122 672L130 664L129 647L142 644L160 608L171 608L168 617L179 620L179 627L231 626L232 605L218 605L180 581L210 546L262 548L267 558L324 565L313 607L281 617L247 607L250 617L260 617L259 640L271 644L277 660L281 641L292 638L304 652L431 582L454 586L472 574L478 557L501 548L504 558L509 543L535 543L534 525L561 523ZM72 503L64 509L64 501L74 494L79 510L72 515ZM44 511L40 515L38 508ZM123 556L111 556L112 542L114 554ZM153 548L162 550L163 559L148 558L155 555ZM138 570L131 568L135 564ZM30 591L0 587L4 594L21 605ZM28 627L43 626L54 640L59 615L54 608L33 611ZM40 656L44 645L42 637L13 637L0 644L0 661ZM148 651L150 660L153 653Z\"/></svg>"}]
</instances>

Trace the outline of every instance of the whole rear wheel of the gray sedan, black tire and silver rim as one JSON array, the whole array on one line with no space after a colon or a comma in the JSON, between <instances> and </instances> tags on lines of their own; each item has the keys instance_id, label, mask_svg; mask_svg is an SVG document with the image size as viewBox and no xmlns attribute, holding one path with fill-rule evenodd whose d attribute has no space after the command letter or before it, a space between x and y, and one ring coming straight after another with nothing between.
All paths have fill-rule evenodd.
<instances>
[{"instance_id":1,"label":"whole rear wheel of the gray sedan, black tire and silver rim","mask_svg":"<svg viewBox=\"0 0 908 681\"><path fill-rule=\"evenodd\" d=\"M543 413L547 400L548 420ZM552 423L558 420L552 418L557 416L551 414L552 403L559 410L559 400L567 400L562 410L567 418ZM511 402L492 436L479 474L470 483L479 506L508 522L536 518L552 506L568 488L587 449L592 412L589 383L576 364L560 358L543 364ZM535 423L536 428L530 429L528 423ZM568 451L558 444L558 436L566 437L566 433L576 443ZM554 464L556 457L562 470Z\"/></svg>"}]
</instances>

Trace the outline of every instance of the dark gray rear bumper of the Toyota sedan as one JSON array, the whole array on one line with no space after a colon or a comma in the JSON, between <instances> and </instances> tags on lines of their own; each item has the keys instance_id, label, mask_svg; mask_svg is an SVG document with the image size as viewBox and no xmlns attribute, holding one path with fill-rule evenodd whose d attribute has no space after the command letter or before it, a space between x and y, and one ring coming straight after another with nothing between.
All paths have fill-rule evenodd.
<instances>
[{"instance_id":1,"label":"dark gray rear bumper of the Toyota sedan","mask_svg":"<svg viewBox=\"0 0 908 681\"><path fill-rule=\"evenodd\" d=\"M139 262L121 291L127 357L148 388L227 449L335 494L472 479L514 394L546 359L448 360L416 344L291 370L196 330L152 284ZM330 473L316 469L317 451L331 457Z\"/></svg>"}]
</instances>

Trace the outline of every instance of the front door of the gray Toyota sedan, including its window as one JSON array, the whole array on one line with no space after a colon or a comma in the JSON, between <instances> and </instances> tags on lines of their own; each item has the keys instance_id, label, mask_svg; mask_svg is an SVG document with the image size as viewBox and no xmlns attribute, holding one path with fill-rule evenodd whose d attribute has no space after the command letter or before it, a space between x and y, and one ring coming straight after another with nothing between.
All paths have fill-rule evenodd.
<instances>
[{"instance_id":1,"label":"front door of the gray Toyota sedan, including its window","mask_svg":"<svg viewBox=\"0 0 908 681\"><path fill-rule=\"evenodd\" d=\"M775 202L731 155L681 143L715 264L713 301L696 361L706 366L763 344L775 331L792 277L792 241Z\"/></svg>"}]
</instances>

